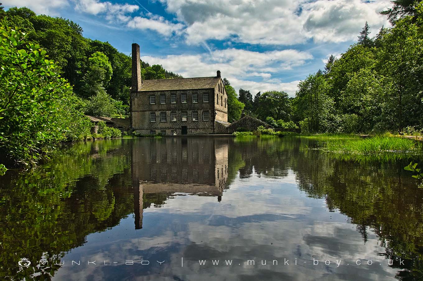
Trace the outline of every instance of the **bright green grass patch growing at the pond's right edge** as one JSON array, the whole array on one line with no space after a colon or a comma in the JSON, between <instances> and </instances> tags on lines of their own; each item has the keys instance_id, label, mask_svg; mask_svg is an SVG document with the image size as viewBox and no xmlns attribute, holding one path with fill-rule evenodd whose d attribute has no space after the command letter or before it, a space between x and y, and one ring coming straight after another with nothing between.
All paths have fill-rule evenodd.
<instances>
[{"instance_id":1,"label":"bright green grass patch growing at the pond's right edge","mask_svg":"<svg viewBox=\"0 0 423 281\"><path fill-rule=\"evenodd\" d=\"M331 141L319 143L318 148L325 152L359 155L398 155L422 154L423 146L419 141L407 138L375 136L373 138L333 138Z\"/></svg>"}]
</instances>

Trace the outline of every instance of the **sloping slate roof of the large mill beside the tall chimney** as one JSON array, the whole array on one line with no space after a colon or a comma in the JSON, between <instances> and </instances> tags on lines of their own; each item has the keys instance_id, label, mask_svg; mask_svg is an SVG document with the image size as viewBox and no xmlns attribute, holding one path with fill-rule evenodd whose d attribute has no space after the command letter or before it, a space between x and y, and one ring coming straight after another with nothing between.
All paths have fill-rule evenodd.
<instances>
[{"instance_id":1,"label":"sloping slate roof of the large mill beside the tall chimney","mask_svg":"<svg viewBox=\"0 0 423 281\"><path fill-rule=\"evenodd\" d=\"M140 91L211 89L216 87L219 80L217 76L143 80Z\"/></svg>"}]
</instances>

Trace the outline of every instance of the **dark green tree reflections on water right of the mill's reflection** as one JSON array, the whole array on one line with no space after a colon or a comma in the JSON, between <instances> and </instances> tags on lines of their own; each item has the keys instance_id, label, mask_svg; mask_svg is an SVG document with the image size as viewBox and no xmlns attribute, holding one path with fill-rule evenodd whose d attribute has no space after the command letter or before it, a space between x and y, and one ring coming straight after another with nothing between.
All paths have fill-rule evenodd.
<instances>
[{"instance_id":1,"label":"dark green tree reflections on water right of the mill's reflection","mask_svg":"<svg viewBox=\"0 0 423 281\"><path fill-rule=\"evenodd\" d=\"M316 150L306 150L313 141L291 138L253 138L248 142L234 140L229 149L238 159L241 177L255 171L258 175L286 176L292 169L298 188L307 196L324 198L330 211L351 218L363 237L369 231L378 235L386 248L392 267L401 269L396 278L421 280L423 277L423 190L405 174L407 160L379 162L342 160L328 157ZM234 171L236 175L237 171ZM406 259L400 265L396 258ZM420 278L420 279L419 279Z\"/></svg>"}]
</instances>

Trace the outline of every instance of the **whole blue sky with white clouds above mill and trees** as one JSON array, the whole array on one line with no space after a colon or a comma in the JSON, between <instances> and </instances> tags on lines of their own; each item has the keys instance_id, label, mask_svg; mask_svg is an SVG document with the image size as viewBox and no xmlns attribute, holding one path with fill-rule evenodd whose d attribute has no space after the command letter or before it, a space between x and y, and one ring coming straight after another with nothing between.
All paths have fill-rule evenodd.
<instances>
[{"instance_id":1,"label":"whole blue sky with white clouds above mill and trees","mask_svg":"<svg viewBox=\"0 0 423 281\"><path fill-rule=\"evenodd\" d=\"M324 69L357 41L365 22L375 36L390 26L389 0L1 0L7 9L78 23L83 35L183 77L220 70L238 91L286 91Z\"/></svg>"}]
</instances>

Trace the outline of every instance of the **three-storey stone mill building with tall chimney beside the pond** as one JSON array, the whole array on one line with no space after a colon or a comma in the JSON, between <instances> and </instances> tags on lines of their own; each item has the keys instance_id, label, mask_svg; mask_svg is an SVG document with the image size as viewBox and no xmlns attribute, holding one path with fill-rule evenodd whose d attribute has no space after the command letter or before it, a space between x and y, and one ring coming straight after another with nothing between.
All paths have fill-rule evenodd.
<instances>
[{"instance_id":1,"label":"three-storey stone mill building with tall chimney beside the pond","mask_svg":"<svg viewBox=\"0 0 423 281\"><path fill-rule=\"evenodd\" d=\"M140 134L226 133L228 96L216 76L142 80L140 46L132 44L131 128Z\"/></svg>"}]
</instances>

